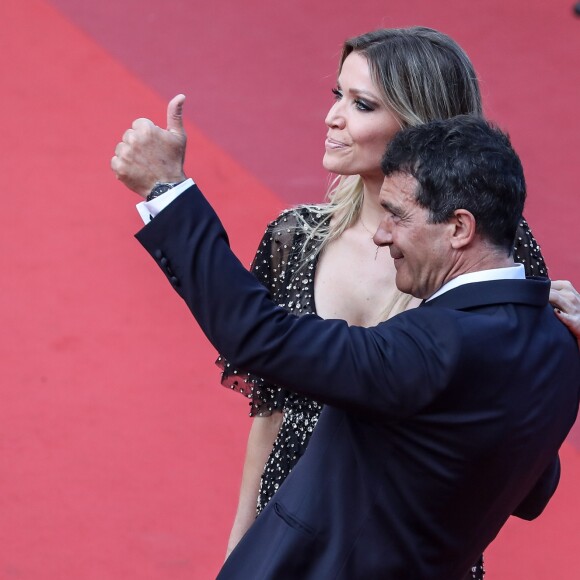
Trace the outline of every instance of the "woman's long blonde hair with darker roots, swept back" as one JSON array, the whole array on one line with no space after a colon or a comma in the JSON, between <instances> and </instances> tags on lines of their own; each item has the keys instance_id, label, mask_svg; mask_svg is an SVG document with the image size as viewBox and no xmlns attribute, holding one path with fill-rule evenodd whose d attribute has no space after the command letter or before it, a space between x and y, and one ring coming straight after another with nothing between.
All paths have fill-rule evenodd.
<instances>
[{"instance_id":1,"label":"woman's long blonde hair with darker roots, swept back","mask_svg":"<svg viewBox=\"0 0 580 580\"><path fill-rule=\"evenodd\" d=\"M481 94L475 70L467 54L449 36L422 26L385 28L347 40L342 48L338 72L352 52L367 59L371 76L384 105L402 128L456 115L481 115ZM358 175L336 176L326 195L327 203L306 205L320 213L315 227L300 226L309 242L318 242L317 252L338 238L359 219L363 184ZM402 312L411 296L395 292L382 319Z\"/></svg>"}]
</instances>

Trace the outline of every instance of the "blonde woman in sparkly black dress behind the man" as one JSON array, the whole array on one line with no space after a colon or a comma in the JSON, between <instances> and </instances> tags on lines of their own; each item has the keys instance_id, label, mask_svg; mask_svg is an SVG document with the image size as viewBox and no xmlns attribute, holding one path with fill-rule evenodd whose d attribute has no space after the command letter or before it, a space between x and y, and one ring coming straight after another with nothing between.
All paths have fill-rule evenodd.
<instances>
[{"instance_id":1,"label":"blonde woman in sparkly black dress behind the man","mask_svg":"<svg viewBox=\"0 0 580 580\"><path fill-rule=\"evenodd\" d=\"M333 93L323 164L337 179L328 202L288 210L269 224L252 270L294 314L373 326L417 305L397 290L388 250L372 241L384 212L378 195L386 145L402 127L481 115L479 86L455 41L413 27L346 41ZM547 276L525 221L514 257L528 275ZM222 383L249 397L254 417L229 554L303 454L322 407L232 369L221 357L218 364ZM466 573L483 578L482 562Z\"/></svg>"}]
</instances>

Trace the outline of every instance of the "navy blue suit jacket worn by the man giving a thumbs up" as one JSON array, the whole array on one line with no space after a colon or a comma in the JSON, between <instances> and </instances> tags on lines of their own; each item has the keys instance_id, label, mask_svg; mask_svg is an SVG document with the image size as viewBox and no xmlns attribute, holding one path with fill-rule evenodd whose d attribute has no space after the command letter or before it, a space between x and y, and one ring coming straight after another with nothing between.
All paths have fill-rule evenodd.
<instances>
[{"instance_id":1,"label":"navy blue suit jacket worn by the man giving a thumbs up","mask_svg":"<svg viewBox=\"0 0 580 580\"><path fill-rule=\"evenodd\" d=\"M546 505L580 393L549 282L469 284L366 329L274 305L195 186L137 237L231 363L326 405L219 578L462 578Z\"/></svg>"}]
</instances>

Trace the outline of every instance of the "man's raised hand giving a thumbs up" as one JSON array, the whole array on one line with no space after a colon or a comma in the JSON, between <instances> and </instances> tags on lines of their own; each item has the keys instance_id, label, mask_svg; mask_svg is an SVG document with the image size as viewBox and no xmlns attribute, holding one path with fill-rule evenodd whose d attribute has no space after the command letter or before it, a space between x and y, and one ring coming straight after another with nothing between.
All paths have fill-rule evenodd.
<instances>
[{"instance_id":1,"label":"man's raised hand giving a thumbs up","mask_svg":"<svg viewBox=\"0 0 580 580\"><path fill-rule=\"evenodd\" d=\"M184 95L167 106L167 129L137 119L115 148L111 169L122 183L146 197L156 183L186 179L183 172L187 136L183 128Z\"/></svg>"}]
</instances>

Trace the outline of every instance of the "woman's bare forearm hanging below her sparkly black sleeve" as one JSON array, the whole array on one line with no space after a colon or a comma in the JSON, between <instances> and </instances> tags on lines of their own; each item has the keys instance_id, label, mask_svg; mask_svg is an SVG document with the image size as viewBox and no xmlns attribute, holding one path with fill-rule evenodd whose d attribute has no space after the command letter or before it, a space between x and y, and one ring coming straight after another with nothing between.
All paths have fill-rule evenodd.
<instances>
[{"instance_id":1,"label":"woman's bare forearm hanging below her sparkly black sleeve","mask_svg":"<svg viewBox=\"0 0 580 580\"><path fill-rule=\"evenodd\" d=\"M266 417L255 417L252 421L242 471L238 509L228 540L226 558L256 519L260 480L281 423L282 413L280 411L274 411Z\"/></svg>"}]
</instances>

